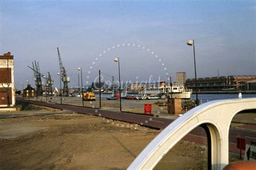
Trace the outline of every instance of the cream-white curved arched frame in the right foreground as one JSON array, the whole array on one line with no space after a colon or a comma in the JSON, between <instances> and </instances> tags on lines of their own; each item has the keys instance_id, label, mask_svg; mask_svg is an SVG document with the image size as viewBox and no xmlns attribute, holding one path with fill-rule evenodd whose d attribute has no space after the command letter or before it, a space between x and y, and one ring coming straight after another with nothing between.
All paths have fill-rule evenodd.
<instances>
[{"instance_id":1,"label":"cream-white curved arched frame in the right foreground","mask_svg":"<svg viewBox=\"0 0 256 170\"><path fill-rule=\"evenodd\" d=\"M201 125L209 132L211 168L223 169L228 164L228 131L234 115L255 108L256 98L215 100L195 107L154 138L128 169L153 169L178 141Z\"/></svg>"}]
</instances>

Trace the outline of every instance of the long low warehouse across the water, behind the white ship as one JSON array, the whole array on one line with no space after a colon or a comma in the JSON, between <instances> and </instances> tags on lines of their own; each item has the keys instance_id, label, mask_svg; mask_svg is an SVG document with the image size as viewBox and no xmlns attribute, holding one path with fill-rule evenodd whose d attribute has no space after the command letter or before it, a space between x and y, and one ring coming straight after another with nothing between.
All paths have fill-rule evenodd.
<instances>
[{"instance_id":1,"label":"long low warehouse across the water, behind the white ship","mask_svg":"<svg viewBox=\"0 0 256 170\"><path fill-rule=\"evenodd\" d=\"M221 76L198 78L198 91L244 90L247 81L256 80L256 75ZM187 79L185 86L196 91L195 79Z\"/></svg>"}]
</instances>

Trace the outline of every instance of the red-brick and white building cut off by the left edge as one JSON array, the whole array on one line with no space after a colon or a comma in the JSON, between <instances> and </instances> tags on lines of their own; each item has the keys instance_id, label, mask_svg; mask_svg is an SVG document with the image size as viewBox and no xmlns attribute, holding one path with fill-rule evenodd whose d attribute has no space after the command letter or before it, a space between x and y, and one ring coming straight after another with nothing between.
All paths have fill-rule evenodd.
<instances>
[{"instance_id":1,"label":"red-brick and white building cut off by the left edge","mask_svg":"<svg viewBox=\"0 0 256 170\"><path fill-rule=\"evenodd\" d=\"M0 111L14 111L14 56L10 52L0 56L0 75Z\"/></svg>"}]
</instances>

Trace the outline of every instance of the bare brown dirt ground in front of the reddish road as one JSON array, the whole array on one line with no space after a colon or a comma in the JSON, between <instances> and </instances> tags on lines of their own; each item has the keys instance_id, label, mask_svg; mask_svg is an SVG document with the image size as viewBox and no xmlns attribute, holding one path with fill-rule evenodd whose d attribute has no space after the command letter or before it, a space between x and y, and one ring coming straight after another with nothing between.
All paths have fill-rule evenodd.
<instances>
[{"instance_id":1,"label":"bare brown dirt ground in front of the reddish road","mask_svg":"<svg viewBox=\"0 0 256 170\"><path fill-rule=\"evenodd\" d=\"M0 119L0 169L125 169L158 133L84 114ZM181 141L156 169L205 169L206 158Z\"/></svg>"}]
</instances>

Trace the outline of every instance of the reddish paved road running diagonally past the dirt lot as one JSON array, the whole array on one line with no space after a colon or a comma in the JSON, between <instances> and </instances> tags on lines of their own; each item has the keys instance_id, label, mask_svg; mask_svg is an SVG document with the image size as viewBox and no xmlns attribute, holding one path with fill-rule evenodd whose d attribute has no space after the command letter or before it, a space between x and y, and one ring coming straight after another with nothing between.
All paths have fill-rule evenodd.
<instances>
[{"instance_id":1,"label":"reddish paved road running diagonally past the dirt lot","mask_svg":"<svg viewBox=\"0 0 256 170\"><path fill-rule=\"evenodd\" d=\"M58 108L62 110L70 110L77 113L83 114L90 114L90 115L97 115L102 116L109 119L125 121L134 124L140 124L143 126L156 128L163 130L166 126L168 126L173 119L166 119L166 118L159 118L159 117L152 117L149 115L143 114L133 114L133 113L125 113L125 112L113 112L113 111L106 111L106 110L98 110L96 108L87 108L87 107L79 107L79 106L71 106L71 105L59 105L59 104L52 104L52 103L44 103L42 101L29 101L24 100L22 98L16 98L17 101L21 101L24 103L30 103L35 105L41 105L46 107ZM237 144L237 137L242 137L246 139L246 143L250 144L251 140L256 140L256 130L248 130L245 128L237 129L237 128L230 128L230 151L239 153L239 150L235 147ZM199 142L200 144L207 144L206 133L201 127L197 127L192 130L184 140L195 141Z\"/></svg>"}]
</instances>

